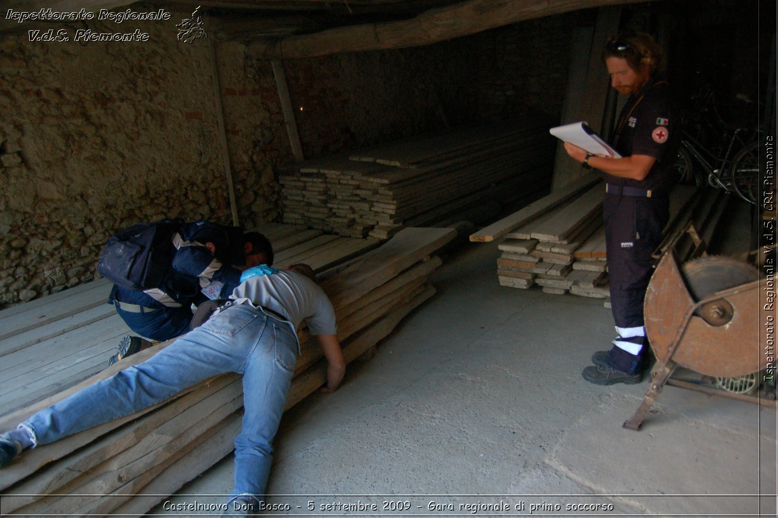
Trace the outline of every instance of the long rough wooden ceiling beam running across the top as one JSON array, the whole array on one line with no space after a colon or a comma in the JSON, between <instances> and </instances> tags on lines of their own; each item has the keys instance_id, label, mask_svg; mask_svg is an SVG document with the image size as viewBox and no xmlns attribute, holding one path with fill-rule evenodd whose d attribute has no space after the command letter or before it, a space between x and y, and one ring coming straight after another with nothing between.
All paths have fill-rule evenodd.
<instances>
[{"instance_id":1,"label":"long rough wooden ceiling beam running across the top","mask_svg":"<svg viewBox=\"0 0 778 518\"><path fill-rule=\"evenodd\" d=\"M638 0L469 0L398 22L338 27L275 41L259 41L251 45L251 51L258 58L287 59L416 47L525 19L633 2Z\"/></svg>"}]
</instances>

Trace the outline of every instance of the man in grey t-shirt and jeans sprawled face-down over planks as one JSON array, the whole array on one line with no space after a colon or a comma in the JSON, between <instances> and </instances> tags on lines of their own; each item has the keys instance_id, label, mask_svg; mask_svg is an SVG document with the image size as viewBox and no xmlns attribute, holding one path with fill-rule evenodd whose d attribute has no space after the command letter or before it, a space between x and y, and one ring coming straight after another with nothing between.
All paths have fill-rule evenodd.
<instances>
[{"instance_id":1,"label":"man in grey t-shirt and jeans sprawled face-down over planks","mask_svg":"<svg viewBox=\"0 0 778 518\"><path fill-rule=\"evenodd\" d=\"M246 280L233 292L233 300L202 326L149 360L80 390L0 435L0 467L23 449L150 407L213 375L237 372L243 375L244 418L235 439L235 488L225 507L230 514L253 513L265 494L272 439L300 354L300 322L307 322L328 361L327 384L321 390L335 390L345 373L335 310L316 284L314 270L304 264L286 271L259 268L254 277L244 273Z\"/></svg>"}]
</instances>

